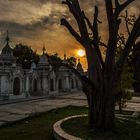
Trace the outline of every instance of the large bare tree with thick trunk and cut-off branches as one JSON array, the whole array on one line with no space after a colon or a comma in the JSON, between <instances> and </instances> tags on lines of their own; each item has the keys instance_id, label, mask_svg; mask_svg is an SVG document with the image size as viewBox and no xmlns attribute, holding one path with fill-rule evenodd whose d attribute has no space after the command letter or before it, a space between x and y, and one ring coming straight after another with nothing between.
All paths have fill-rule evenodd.
<instances>
[{"instance_id":1,"label":"large bare tree with thick trunk and cut-off branches","mask_svg":"<svg viewBox=\"0 0 140 140\"><path fill-rule=\"evenodd\" d=\"M125 42L125 47L119 59L115 60L117 48L117 37L121 25L120 13L134 0L126 0L124 3L119 0L104 0L109 37L107 45L100 41L98 25L98 7L95 6L93 23L86 17L81 10L78 0L64 0L62 3L69 7L74 16L79 32L77 33L71 24L65 19L61 19L64 25L74 38L85 48L88 62L88 79L83 82L83 91L87 95L89 106L89 125L90 127L111 129L115 126L115 101L117 84L120 75L132 46L135 44L140 34L140 16L136 19L132 30L129 30L129 36ZM128 27L127 27L128 28ZM93 34L89 36L90 29ZM106 47L106 57L103 61L100 46ZM81 79L82 80L82 79Z\"/></svg>"}]
</instances>

